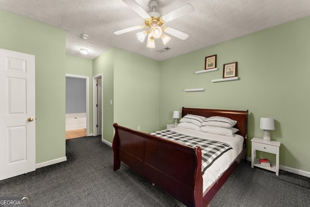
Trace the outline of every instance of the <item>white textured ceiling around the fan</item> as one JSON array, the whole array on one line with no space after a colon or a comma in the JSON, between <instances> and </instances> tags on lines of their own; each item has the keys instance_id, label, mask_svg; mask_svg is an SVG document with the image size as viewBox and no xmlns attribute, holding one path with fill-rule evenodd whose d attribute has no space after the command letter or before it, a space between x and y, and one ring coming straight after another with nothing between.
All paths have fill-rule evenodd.
<instances>
[{"instance_id":1,"label":"white textured ceiling around the fan","mask_svg":"<svg viewBox=\"0 0 310 207\"><path fill-rule=\"evenodd\" d=\"M149 0L136 0L152 12ZM0 9L43 22L66 31L66 53L94 59L109 48L117 47L162 61L261 31L305 16L310 16L310 0L158 0L155 12L165 15L190 3L195 11L172 20L165 26L189 34L186 40L171 36L164 46L155 40L155 49L146 48L133 31L113 32L144 25L144 19L122 0L0 0ZM142 31L142 30L141 30ZM89 39L80 37L89 34ZM163 53L157 50L169 47ZM86 48L88 55L80 54Z\"/></svg>"}]
</instances>

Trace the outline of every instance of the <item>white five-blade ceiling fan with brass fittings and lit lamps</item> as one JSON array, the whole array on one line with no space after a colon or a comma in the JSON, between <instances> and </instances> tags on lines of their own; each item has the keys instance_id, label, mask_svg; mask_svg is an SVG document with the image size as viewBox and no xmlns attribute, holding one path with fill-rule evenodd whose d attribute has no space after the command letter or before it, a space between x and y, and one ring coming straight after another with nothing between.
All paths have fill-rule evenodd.
<instances>
[{"instance_id":1,"label":"white five-blade ceiling fan with brass fittings and lit lamps","mask_svg":"<svg viewBox=\"0 0 310 207\"><path fill-rule=\"evenodd\" d=\"M158 6L157 0L150 1L149 5L153 9L153 12L150 13L144 11L135 0L123 0L123 2L145 19L145 25L119 30L114 32L114 34L119 35L126 32L148 28L145 31L137 33L137 38L140 42L143 42L145 37L148 35L146 45L148 48L155 48L155 39L159 37L162 39L164 45L166 45L171 37L167 36L165 33L171 34L172 36L182 40L185 40L188 37L188 34L175 30L171 27L163 26L163 24L194 12L194 7L190 3L186 3L185 5L171 11L170 13L161 16L158 12L155 12L155 8Z\"/></svg>"}]
</instances>

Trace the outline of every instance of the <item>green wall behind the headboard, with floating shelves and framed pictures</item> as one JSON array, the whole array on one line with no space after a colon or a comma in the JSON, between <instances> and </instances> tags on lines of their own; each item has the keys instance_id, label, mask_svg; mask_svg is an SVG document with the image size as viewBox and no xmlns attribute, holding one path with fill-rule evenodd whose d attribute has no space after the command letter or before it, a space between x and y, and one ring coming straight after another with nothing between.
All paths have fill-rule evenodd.
<instances>
[{"instance_id":1,"label":"green wall behind the headboard, with floating shelves and framed pictures","mask_svg":"<svg viewBox=\"0 0 310 207\"><path fill-rule=\"evenodd\" d=\"M262 138L260 117L273 117L276 129L270 134L281 142L280 165L310 172L309 25L306 17L162 61L160 128L173 123L172 111L183 106L249 110L249 139ZM195 74L214 54L219 70ZM223 64L232 62L238 62L240 80L211 82L222 78ZM184 92L193 88L205 91ZM250 150L249 142L248 155Z\"/></svg>"}]
</instances>

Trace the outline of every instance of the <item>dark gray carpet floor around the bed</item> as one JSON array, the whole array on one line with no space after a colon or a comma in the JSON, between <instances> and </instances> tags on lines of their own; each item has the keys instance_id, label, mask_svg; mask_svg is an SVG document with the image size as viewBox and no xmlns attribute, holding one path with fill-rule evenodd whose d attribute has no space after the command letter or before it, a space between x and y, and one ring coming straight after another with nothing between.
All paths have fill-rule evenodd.
<instances>
[{"instance_id":1,"label":"dark gray carpet floor around the bed","mask_svg":"<svg viewBox=\"0 0 310 207\"><path fill-rule=\"evenodd\" d=\"M66 141L67 161L0 181L0 196L28 196L32 207L184 207L121 164L100 137ZM210 207L310 207L310 178L241 163Z\"/></svg>"}]
</instances>

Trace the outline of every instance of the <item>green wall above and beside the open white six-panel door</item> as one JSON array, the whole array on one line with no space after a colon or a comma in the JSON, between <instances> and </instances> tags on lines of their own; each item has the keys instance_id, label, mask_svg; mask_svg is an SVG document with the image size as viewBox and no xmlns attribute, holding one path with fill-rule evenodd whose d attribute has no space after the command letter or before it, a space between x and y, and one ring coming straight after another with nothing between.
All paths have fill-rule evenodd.
<instances>
[{"instance_id":1,"label":"green wall above and beside the open white six-panel door","mask_svg":"<svg viewBox=\"0 0 310 207\"><path fill-rule=\"evenodd\" d=\"M0 48L35 55L36 163L65 157L65 32L0 10Z\"/></svg>"}]
</instances>

